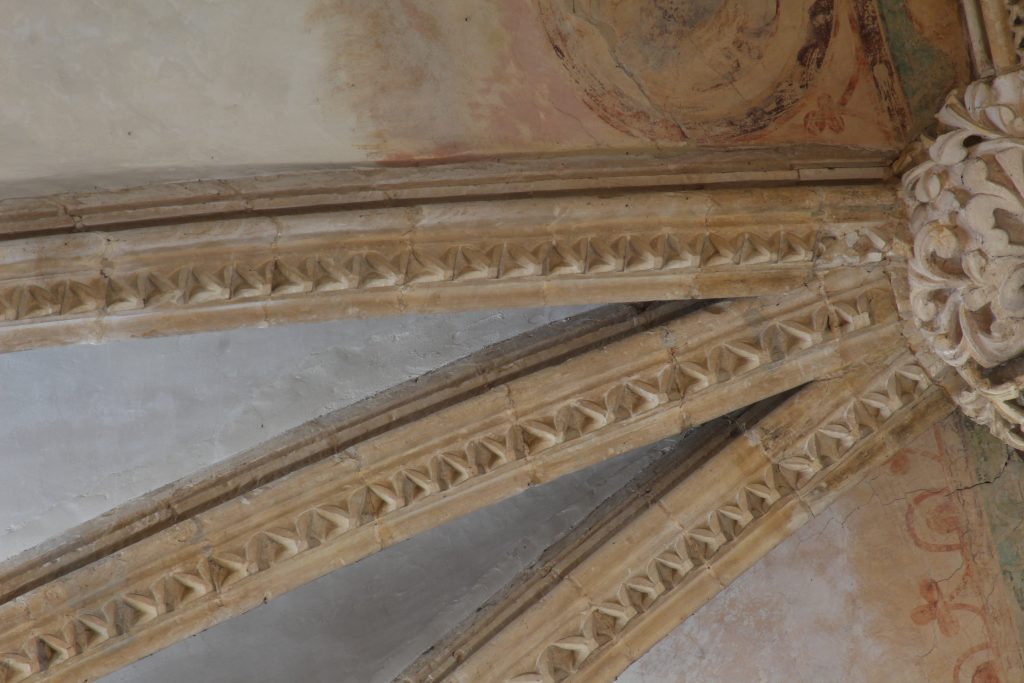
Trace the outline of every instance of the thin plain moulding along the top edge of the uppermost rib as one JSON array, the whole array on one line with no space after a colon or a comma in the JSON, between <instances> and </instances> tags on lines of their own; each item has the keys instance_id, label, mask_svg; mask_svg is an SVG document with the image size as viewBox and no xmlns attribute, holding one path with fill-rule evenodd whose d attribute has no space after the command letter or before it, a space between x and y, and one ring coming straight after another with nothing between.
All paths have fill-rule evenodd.
<instances>
[{"instance_id":1,"label":"thin plain moulding along the top edge of the uppermost rib","mask_svg":"<svg viewBox=\"0 0 1024 683\"><path fill-rule=\"evenodd\" d=\"M366 209L636 188L882 181L892 155L855 147L686 150L504 157L417 166L354 165L124 189L0 200L0 241L123 231L325 208Z\"/></svg>"}]
</instances>

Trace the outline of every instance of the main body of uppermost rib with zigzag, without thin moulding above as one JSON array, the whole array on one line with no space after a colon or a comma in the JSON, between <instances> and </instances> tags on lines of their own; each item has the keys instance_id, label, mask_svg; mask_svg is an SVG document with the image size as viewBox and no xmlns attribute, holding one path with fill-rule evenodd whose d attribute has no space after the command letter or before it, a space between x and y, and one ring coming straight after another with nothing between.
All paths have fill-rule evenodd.
<instances>
[{"instance_id":1,"label":"main body of uppermost rib with zigzag, without thin moulding above","mask_svg":"<svg viewBox=\"0 0 1024 683\"><path fill-rule=\"evenodd\" d=\"M109 217L0 241L0 352L415 311L778 294L881 260L897 210L881 182L218 213L226 201L201 194L184 220L177 205L139 200L125 211L155 217L129 227ZM199 213L204 202L212 217Z\"/></svg>"}]
</instances>

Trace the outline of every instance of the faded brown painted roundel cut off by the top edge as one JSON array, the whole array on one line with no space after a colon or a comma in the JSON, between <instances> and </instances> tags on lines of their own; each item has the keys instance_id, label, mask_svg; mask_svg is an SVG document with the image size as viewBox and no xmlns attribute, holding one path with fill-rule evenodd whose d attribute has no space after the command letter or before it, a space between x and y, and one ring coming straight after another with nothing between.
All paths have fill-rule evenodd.
<instances>
[{"instance_id":1,"label":"faded brown painted roundel cut off by the top edge","mask_svg":"<svg viewBox=\"0 0 1024 683\"><path fill-rule=\"evenodd\" d=\"M764 130L816 80L835 0L538 0L552 49L588 104L651 140Z\"/></svg>"}]
</instances>

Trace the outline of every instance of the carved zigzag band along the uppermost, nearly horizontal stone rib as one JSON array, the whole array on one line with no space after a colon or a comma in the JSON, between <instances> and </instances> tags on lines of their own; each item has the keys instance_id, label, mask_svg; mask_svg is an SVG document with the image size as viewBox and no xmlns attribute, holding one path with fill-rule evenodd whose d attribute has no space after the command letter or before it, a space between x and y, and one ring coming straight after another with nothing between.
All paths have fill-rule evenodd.
<instances>
[{"instance_id":1,"label":"carved zigzag band along the uppermost, nearly horizontal stone rib","mask_svg":"<svg viewBox=\"0 0 1024 683\"><path fill-rule=\"evenodd\" d=\"M182 263L0 286L0 322L468 281L806 262L813 259L815 240L815 231L731 237L657 232L530 243L402 244L383 250L355 247L273 259Z\"/></svg>"}]
</instances>

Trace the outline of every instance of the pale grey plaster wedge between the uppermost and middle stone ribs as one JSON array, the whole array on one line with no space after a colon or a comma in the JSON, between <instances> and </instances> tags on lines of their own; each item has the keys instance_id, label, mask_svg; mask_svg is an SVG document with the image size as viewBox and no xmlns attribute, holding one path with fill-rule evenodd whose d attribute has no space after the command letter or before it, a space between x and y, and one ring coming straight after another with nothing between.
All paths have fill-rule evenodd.
<instances>
[{"instance_id":1,"label":"pale grey plaster wedge between the uppermost and middle stone ribs","mask_svg":"<svg viewBox=\"0 0 1024 683\"><path fill-rule=\"evenodd\" d=\"M581 310L340 321L0 354L0 560Z\"/></svg>"}]
</instances>

